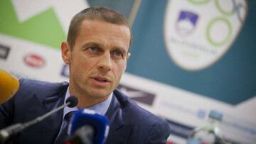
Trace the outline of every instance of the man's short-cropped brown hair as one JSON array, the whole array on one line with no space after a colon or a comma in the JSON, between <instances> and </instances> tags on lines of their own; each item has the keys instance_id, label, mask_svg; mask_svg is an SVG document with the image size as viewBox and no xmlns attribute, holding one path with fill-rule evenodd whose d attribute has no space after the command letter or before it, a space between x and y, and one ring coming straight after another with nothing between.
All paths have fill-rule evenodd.
<instances>
[{"instance_id":1,"label":"man's short-cropped brown hair","mask_svg":"<svg viewBox=\"0 0 256 144\"><path fill-rule=\"evenodd\" d=\"M75 46L75 38L79 33L81 23L85 19L100 20L108 23L127 26L131 32L127 18L125 18L121 13L118 13L117 11L114 11L107 7L90 7L77 13L70 22L67 41L70 45L71 50L73 50L73 47ZM131 36L132 36L132 33L131 33ZM130 40L130 45L131 45L131 40Z\"/></svg>"}]
</instances>

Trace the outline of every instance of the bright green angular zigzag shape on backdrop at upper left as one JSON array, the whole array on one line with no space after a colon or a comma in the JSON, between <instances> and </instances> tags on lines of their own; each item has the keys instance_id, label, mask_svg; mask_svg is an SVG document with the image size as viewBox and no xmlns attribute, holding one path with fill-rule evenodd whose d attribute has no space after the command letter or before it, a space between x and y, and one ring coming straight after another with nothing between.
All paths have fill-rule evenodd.
<instances>
[{"instance_id":1,"label":"bright green angular zigzag shape on backdrop at upper left","mask_svg":"<svg viewBox=\"0 0 256 144\"><path fill-rule=\"evenodd\" d=\"M20 23L11 0L4 0L0 4L0 19L0 33L5 35L56 49L60 49L61 41L66 38L53 8Z\"/></svg>"}]
</instances>

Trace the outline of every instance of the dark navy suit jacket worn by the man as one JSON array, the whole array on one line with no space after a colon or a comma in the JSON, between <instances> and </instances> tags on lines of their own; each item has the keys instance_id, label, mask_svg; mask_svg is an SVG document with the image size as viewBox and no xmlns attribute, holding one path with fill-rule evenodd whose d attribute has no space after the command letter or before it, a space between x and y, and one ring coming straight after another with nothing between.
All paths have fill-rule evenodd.
<instances>
[{"instance_id":1,"label":"dark navy suit jacket worn by the man","mask_svg":"<svg viewBox=\"0 0 256 144\"><path fill-rule=\"evenodd\" d=\"M0 129L14 123L31 121L64 103L68 83L49 83L20 79L16 95L0 105ZM106 143L166 143L169 125L137 106L134 101L114 90L106 113L110 119L110 132ZM62 123L63 111L26 128L16 143L53 143Z\"/></svg>"}]
</instances>

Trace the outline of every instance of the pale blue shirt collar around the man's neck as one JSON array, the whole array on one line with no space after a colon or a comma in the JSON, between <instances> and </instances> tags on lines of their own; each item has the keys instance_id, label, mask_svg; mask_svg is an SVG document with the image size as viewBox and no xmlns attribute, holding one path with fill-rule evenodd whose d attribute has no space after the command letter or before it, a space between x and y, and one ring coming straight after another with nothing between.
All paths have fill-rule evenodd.
<instances>
[{"instance_id":1,"label":"pale blue shirt collar around the man's neck","mask_svg":"<svg viewBox=\"0 0 256 144\"><path fill-rule=\"evenodd\" d=\"M90 109L90 110L96 111L97 113L105 115L105 113L107 112L107 109L110 107L112 95L113 95L113 92L110 94L110 96L105 101L102 101L101 103L90 106L89 108L86 108L86 109ZM69 96L70 96L70 92L69 92L69 87L68 87L68 90L65 94L65 101L66 101L66 99L68 99ZM65 101L64 101L64 104L65 104ZM63 118L64 118L65 114L69 113L70 111L78 111L78 106L75 106L73 108L65 106L65 108L63 110Z\"/></svg>"}]
</instances>

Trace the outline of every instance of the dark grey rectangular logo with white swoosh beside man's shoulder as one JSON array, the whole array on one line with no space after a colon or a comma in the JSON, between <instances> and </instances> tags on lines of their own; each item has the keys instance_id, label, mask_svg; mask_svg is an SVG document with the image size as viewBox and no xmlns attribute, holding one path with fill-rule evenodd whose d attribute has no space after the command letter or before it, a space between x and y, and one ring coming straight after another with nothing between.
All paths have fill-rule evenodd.
<instances>
[{"instance_id":1,"label":"dark grey rectangular logo with white swoosh beside man's shoulder","mask_svg":"<svg viewBox=\"0 0 256 144\"><path fill-rule=\"evenodd\" d=\"M124 86L122 84L119 84L118 89L124 92L124 94L127 94L134 101L138 101L142 104L146 104L149 106L153 105L154 99L156 97L155 94L144 92L140 89L133 89L131 87Z\"/></svg>"}]
</instances>

